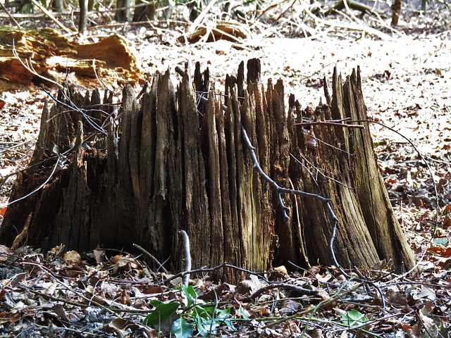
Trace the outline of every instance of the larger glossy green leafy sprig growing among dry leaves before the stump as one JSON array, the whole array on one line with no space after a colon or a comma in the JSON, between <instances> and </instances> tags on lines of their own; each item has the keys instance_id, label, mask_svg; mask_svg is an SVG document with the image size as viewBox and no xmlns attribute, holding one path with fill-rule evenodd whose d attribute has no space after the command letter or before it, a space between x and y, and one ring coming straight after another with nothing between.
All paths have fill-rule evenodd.
<instances>
[{"instance_id":1,"label":"larger glossy green leafy sprig growing among dry leaves before the stump","mask_svg":"<svg viewBox=\"0 0 451 338\"><path fill-rule=\"evenodd\" d=\"M186 304L171 301L163 303L153 300L150 303L155 310L144 318L145 325L159 327L161 322L177 318L171 325L171 333L175 338L192 336L194 330L202 337L216 334L218 327L227 325L229 330L235 330L230 320L230 307L219 310L216 306L204 306L197 302L197 293L192 286L178 287L183 292Z\"/></svg>"}]
</instances>

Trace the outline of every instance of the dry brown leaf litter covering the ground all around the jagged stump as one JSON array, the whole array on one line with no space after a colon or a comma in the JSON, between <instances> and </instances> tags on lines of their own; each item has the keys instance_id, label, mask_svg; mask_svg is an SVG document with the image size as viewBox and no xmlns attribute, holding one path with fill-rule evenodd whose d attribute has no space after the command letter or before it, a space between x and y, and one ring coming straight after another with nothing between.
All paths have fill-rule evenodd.
<instances>
[{"instance_id":1,"label":"dry brown leaf litter covering the ground all around the jagged stump","mask_svg":"<svg viewBox=\"0 0 451 338\"><path fill-rule=\"evenodd\" d=\"M279 8L280 9L280 8ZM296 11L297 8L292 8ZM416 273L397 275L390 262L347 271L371 284L345 280L335 267L285 267L249 274L240 284L215 284L204 274L182 277L151 271L140 257L97 249L47 253L0 246L0 332L9 337L449 337L451 318L450 31L424 16L407 18L397 39L371 39L339 27L299 39L297 21L266 12L249 23L245 42L179 42L186 27L128 27L148 78L199 61L223 81L247 58L261 59L261 77L283 78L305 106L322 98L335 65L359 65L378 163L395 213L416 253ZM271 16L272 15L272 16ZM445 14L444 14L445 15ZM443 18L443 20L446 20ZM343 19L344 23L347 23ZM340 23L340 22L339 22ZM371 27L371 23L366 23ZM446 23L443 23L446 25ZM318 33L319 31L315 31ZM96 41L94 32L92 41ZM176 75L174 75L176 76ZM144 81L145 79L143 79ZM142 83L137 84L142 85ZM119 91L119 86L116 87ZM39 132L46 95L36 87L4 88L1 99L1 176L25 168ZM13 178L1 188L8 200ZM438 192L436 214L434 184ZM1 213L0 213L1 214ZM292 268L292 267L290 267ZM381 296L388 304L382 306Z\"/></svg>"}]
</instances>

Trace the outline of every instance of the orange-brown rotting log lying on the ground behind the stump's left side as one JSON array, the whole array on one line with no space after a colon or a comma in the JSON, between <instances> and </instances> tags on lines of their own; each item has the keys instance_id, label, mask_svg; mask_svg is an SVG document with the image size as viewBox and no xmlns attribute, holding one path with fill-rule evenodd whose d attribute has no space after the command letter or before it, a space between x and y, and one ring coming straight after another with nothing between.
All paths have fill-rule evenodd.
<instances>
[{"instance_id":1,"label":"orange-brown rotting log lying on the ground behind the stump's left side","mask_svg":"<svg viewBox=\"0 0 451 338\"><path fill-rule=\"evenodd\" d=\"M10 83L50 86L62 83L67 70L75 75L70 77L73 82L100 77L107 84L129 84L141 75L135 56L118 35L95 44L77 44L49 28L0 27L0 77Z\"/></svg>"}]
</instances>

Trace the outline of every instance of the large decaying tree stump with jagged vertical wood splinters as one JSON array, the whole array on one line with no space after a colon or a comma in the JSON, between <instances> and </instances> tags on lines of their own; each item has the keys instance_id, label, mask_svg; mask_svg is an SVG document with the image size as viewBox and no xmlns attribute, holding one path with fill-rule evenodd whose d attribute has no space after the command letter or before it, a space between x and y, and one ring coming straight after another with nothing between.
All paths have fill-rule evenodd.
<instances>
[{"instance_id":1,"label":"large decaying tree stump with jagged vertical wood splinters","mask_svg":"<svg viewBox=\"0 0 451 338\"><path fill-rule=\"evenodd\" d=\"M224 262L249 270L288 261L333 264L326 206L285 195L284 218L277 194L254 170L243 125L261 168L277 184L330 198L340 220L334 246L340 264L391 259L397 269L412 268L414 256L393 215L368 125L341 125L346 118L366 120L359 70L344 84L335 71L332 97L325 84L327 104L315 111L303 111L290 96L288 113L282 81L268 81L265 90L256 59L247 64L246 83L244 63L237 77L227 77L224 102L208 70L202 74L197 65L194 84L188 73L177 89L169 71L156 75L139 101L125 87L116 120L111 96L101 102L98 92L90 98L70 90L60 94L59 101L78 108L46 106L32 163L18 175L11 201L47 180L56 163L54 144L58 161L66 163L58 164L43 189L8 207L1 243L11 246L16 239L18 245L17 238L26 238L43 249L63 243L79 251L131 250L137 243L161 261L171 256L171 267L180 269L178 230L186 230L193 268ZM208 92L208 102L199 101L196 91ZM90 123L83 114L91 116ZM339 125L296 125L323 120ZM97 134L94 143L89 132ZM235 270L223 274L216 277L240 277Z\"/></svg>"}]
</instances>

